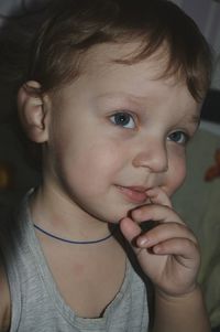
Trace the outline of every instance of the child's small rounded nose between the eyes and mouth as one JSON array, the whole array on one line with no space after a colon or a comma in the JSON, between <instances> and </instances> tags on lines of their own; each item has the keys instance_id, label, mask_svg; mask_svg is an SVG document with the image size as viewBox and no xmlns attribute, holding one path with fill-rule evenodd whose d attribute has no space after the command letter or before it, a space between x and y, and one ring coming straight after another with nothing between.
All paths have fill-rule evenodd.
<instances>
[{"instance_id":1,"label":"child's small rounded nose between the eyes and mouth","mask_svg":"<svg viewBox=\"0 0 220 332\"><path fill-rule=\"evenodd\" d=\"M151 172L155 173L166 172L168 169L166 143L156 139L147 141L136 152L132 164L135 168L147 168Z\"/></svg>"}]
</instances>

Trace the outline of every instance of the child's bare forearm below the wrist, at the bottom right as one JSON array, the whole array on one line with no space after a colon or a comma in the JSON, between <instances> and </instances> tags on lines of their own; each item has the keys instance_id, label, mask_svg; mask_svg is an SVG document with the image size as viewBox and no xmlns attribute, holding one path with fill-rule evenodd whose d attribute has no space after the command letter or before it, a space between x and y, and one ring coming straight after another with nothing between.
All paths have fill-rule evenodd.
<instances>
[{"instance_id":1,"label":"child's bare forearm below the wrist, at the bottom right","mask_svg":"<svg viewBox=\"0 0 220 332\"><path fill-rule=\"evenodd\" d=\"M201 290L197 287L188 294L168 298L155 294L153 332L210 332L210 323Z\"/></svg>"}]
</instances>

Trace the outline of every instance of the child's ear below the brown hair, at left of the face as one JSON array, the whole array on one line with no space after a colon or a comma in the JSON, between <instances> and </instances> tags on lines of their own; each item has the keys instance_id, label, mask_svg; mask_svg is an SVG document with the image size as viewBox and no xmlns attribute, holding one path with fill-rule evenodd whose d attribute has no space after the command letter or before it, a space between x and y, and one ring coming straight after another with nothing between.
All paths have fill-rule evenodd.
<instances>
[{"instance_id":1,"label":"child's ear below the brown hair, at left of the face","mask_svg":"<svg viewBox=\"0 0 220 332\"><path fill-rule=\"evenodd\" d=\"M48 138L48 107L46 97L41 94L41 85L30 81L18 93L18 110L28 137L34 142L45 142Z\"/></svg>"}]
</instances>

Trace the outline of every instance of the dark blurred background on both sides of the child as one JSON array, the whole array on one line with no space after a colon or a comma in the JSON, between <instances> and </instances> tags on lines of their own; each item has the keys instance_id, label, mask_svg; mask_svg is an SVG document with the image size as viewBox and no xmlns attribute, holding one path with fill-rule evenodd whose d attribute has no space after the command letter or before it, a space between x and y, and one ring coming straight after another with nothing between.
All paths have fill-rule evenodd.
<instances>
[{"instance_id":1,"label":"dark blurred background on both sides of the child","mask_svg":"<svg viewBox=\"0 0 220 332\"><path fill-rule=\"evenodd\" d=\"M174 2L197 22L213 52L211 87L204 103L200 128L188 147L188 175L174 196L174 206L199 238L202 254L199 282L213 331L220 331L220 1ZM41 24L46 3L47 0L0 0L0 221L41 181L35 160L26 156L16 128L18 86L7 79L2 54L7 56L6 63L10 63L11 51L6 50L4 41L18 35L6 35L6 26L21 28L28 39ZM18 54L23 62L25 55L25 52Z\"/></svg>"}]
</instances>

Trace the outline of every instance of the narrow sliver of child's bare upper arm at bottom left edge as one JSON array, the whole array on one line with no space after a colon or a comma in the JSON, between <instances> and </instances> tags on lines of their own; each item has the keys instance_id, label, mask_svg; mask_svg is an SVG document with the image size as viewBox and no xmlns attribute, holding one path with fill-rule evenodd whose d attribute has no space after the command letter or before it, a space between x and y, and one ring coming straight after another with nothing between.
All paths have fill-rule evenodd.
<instances>
[{"instance_id":1,"label":"narrow sliver of child's bare upper arm at bottom left edge","mask_svg":"<svg viewBox=\"0 0 220 332\"><path fill-rule=\"evenodd\" d=\"M3 267L0 267L0 331L9 331L10 325L10 290Z\"/></svg>"}]
</instances>

